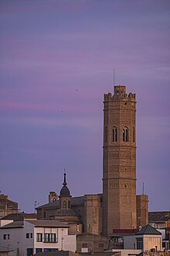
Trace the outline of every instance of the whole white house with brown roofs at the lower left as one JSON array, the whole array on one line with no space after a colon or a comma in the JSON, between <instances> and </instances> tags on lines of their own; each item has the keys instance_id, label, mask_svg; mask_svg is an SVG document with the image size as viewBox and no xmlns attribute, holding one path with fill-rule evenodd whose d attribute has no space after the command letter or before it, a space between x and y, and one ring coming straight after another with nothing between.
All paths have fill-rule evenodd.
<instances>
[{"instance_id":1,"label":"whole white house with brown roofs at the lower left","mask_svg":"<svg viewBox=\"0 0 170 256\"><path fill-rule=\"evenodd\" d=\"M0 251L30 256L38 251L76 251L76 235L58 220L0 220Z\"/></svg>"}]
</instances>

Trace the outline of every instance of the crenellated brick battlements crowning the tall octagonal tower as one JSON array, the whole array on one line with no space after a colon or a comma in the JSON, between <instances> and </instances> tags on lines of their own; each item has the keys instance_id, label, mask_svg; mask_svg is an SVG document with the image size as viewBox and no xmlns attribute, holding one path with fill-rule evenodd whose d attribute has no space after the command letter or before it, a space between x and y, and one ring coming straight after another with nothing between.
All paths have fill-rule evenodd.
<instances>
[{"instance_id":1,"label":"crenellated brick battlements crowning the tall octagonal tower","mask_svg":"<svg viewBox=\"0 0 170 256\"><path fill-rule=\"evenodd\" d=\"M120 101L125 100L129 102L136 101L136 94L135 93L126 93L126 87L124 85L115 85L114 86L114 95L111 95L109 92L108 94L104 94L104 102L107 101Z\"/></svg>"}]
</instances>

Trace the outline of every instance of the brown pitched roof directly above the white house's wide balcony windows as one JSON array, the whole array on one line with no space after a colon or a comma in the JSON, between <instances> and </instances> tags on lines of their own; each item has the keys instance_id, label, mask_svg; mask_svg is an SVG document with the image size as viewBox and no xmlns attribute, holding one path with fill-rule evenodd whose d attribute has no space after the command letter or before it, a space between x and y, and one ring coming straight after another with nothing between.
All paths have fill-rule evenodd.
<instances>
[{"instance_id":1,"label":"brown pitched roof directly above the white house's wide balcony windows","mask_svg":"<svg viewBox=\"0 0 170 256\"><path fill-rule=\"evenodd\" d=\"M36 227L70 227L59 220L26 220Z\"/></svg>"}]
</instances>

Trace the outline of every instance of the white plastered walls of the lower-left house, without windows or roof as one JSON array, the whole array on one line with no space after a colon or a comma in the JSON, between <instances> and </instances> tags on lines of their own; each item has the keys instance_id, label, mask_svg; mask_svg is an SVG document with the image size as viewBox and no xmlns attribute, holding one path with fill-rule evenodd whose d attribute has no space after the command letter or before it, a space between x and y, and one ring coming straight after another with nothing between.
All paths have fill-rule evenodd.
<instances>
[{"instance_id":1,"label":"white plastered walls of the lower-left house, without windows or roof","mask_svg":"<svg viewBox=\"0 0 170 256\"><path fill-rule=\"evenodd\" d=\"M50 221L50 220L49 220ZM26 234L32 233L32 238L26 238ZM36 233L54 233L58 239L56 243L43 243L36 241ZM4 240L4 234L9 234L10 239ZM62 239L63 238L63 239ZM21 256L26 256L27 248L33 248L36 253L36 248L57 248L58 250L76 251L76 235L68 235L68 228L62 227L34 227L32 223L24 220L24 227L0 229L0 251L14 251L16 254L17 247Z\"/></svg>"}]
</instances>

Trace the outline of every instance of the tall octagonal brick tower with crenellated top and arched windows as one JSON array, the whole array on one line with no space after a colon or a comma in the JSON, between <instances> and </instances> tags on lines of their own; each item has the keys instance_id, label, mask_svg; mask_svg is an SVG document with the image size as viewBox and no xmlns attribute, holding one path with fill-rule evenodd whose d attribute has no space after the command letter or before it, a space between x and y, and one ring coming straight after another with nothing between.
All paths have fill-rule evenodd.
<instances>
[{"instance_id":1,"label":"tall octagonal brick tower with crenellated top and arched windows","mask_svg":"<svg viewBox=\"0 0 170 256\"><path fill-rule=\"evenodd\" d=\"M136 228L136 101L123 85L104 95L103 234Z\"/></svg>"}]
</instances>

